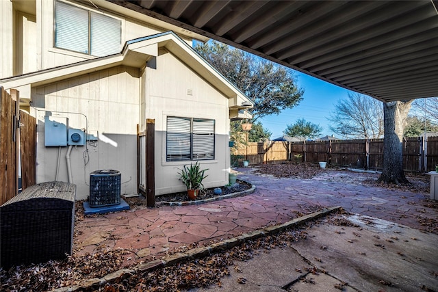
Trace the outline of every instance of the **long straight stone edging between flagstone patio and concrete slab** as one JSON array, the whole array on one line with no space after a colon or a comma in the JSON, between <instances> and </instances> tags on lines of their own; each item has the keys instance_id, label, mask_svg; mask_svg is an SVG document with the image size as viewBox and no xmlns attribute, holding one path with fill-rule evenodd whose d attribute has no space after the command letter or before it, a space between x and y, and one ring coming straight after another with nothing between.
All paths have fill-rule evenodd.
<instances>
[{"instance_id":1,"label":"long straight stone edging between flagstone patio and concrete slab","mask_svg":"<svg viewBox=\"0 0 438 292\"><path fill-rule=\"evenodd\" d=\"M237 245L244 243L245 241L250 241L257 239L259 237L273 235L279 233L289 227L298 226L300 224L307 223L311 220L315 220L324 215L329 215L334 211L338 211L342 209L340 206L330 207L323 209L322 211L318 211L315 213L311 213L309 215L305 215L302 217L298 217L294 220L290 220L280 225L269 226L266 228L262 228L259 230L251 231L249 233L244 233L237 237L233 237L231 239L225 239L224 241L220 241L218 243L213 243L208 246L203 246L200 248L193 248L192 250L188 250L187 252L176 252L170 256L165 256L160 260L150 261L148 263L142 263L133 267L132 269L119 269L118 271L114 271L111 274L107 274L103 276L103 278L92 278L90 280L86 280L79 285L73 287L62 287L52 291L56 292L74 292L74 291L90 291L94 289L99 289L99 287L103 287L107 283L115 282L119 278L129 278L131 274L139 274L144 273L145 271L153 271L155 269L159 269L162 267L169 267L171 265L175 265L181 261L185 261L193 258L201 258L203 256L209 256L214 254L215 252L220 252L223 250L228 250Z\"/></svg>"}]
</instances>

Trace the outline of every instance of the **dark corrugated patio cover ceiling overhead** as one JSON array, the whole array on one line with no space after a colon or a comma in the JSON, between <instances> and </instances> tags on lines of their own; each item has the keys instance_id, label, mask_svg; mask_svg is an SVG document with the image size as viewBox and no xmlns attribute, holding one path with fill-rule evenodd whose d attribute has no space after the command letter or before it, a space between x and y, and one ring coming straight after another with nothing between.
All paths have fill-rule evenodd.
<instances>
[{"instance_id":1,"label":"dark corrugated patio cover ceiling overhead","mask_svg":"<svg viewBox=\"0 0 438 292\"><path fill-rule=\"evenodd\" d=\"M112 1L381 101L438 96L438 1Z\"/></svg>"}]
</instances>

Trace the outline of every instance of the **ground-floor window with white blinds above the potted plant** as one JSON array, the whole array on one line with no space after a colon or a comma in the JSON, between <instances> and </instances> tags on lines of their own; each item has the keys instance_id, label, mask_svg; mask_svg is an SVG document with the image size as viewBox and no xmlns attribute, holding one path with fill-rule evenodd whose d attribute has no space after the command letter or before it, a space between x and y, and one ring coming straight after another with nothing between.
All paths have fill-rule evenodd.
<instances>
[{"instance_id":1,"label":"ground-floor window with white blinds above the potted plant","mask_svg":"<svg viewBox=\"0 0 438 292\"><path fill-rule=\"evenodd\" d=\"M166 161L214 159L214 120L167 118Z\"/></svg>"}]
</instances>

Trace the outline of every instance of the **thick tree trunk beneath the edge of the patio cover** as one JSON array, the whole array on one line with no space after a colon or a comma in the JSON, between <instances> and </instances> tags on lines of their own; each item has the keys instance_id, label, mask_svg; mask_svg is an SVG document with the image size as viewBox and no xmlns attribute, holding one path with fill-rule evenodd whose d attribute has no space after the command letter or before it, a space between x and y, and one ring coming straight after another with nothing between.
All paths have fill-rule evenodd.
<instances>
[{"instance_id":1,"label":"thick tree trunk beneath the edge of the patio cover","mask_svg":"<svg viewBox=\"0 0 438 292\"><path fill-rule=\"evenodd\" d=\"M378 181L409 183L403 171L403 129L412 101L383 103L385 137L383 139L383 172Z\"/></svg>"}]
</instances>

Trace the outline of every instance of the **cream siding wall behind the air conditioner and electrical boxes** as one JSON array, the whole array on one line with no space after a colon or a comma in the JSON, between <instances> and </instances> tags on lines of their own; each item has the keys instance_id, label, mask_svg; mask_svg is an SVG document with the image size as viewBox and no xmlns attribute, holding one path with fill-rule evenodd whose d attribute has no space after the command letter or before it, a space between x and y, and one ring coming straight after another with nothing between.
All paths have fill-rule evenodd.
<instances>
[{"instance_id":1,"label":"cream siding wall behind the air conditioner and electrical boxes","mask_svg":"<svg viewBox=\"0 0 438 292\"><path fill-rule=\"evenodd\" d=\"M33 90L31 111L38 123L37 183L55 181L56 176L59 148L44 146L44 116L51 111L54 117L68 118L68 127L86 129L88 122L88 133L95 137L104 134L116 142L116 146L102 140L73 146L70 163L77 200L88 197L94 170L120 171L121 194L136 193L139 77L138 68L118 66ZM68 181L67 150L60 150L58 181Z\"/></svg>"}]
</instances>

